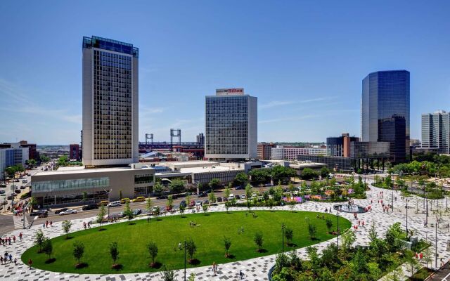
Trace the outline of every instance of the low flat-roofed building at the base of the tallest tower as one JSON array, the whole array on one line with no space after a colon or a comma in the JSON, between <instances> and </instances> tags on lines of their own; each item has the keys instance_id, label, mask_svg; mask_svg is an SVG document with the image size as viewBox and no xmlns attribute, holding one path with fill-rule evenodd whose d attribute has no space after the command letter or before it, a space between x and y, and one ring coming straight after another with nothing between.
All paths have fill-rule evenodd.
<instances>
[{"instance_id":1,"label":"low flat-roofed building at the base of the tallest tower","mask_svg":"<svg viewBox=\"0 0 450 281\"><path fill-rule=\"evenodd\" d=\"M154 183L155 169L145 164L104 169L70 166L31 177L32 196L43 207L108 200L108 192L111 201L148 195Z\"/></svg>"}]
</instances>

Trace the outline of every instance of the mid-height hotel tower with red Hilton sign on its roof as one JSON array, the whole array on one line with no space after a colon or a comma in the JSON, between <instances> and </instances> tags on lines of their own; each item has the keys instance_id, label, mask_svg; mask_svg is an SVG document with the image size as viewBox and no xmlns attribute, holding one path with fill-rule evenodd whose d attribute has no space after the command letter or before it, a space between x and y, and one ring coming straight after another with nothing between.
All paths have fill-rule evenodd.
<instances>
[{"instance_id":1,"label":"mid-height hotel tower with red Hilton sign on its roof","mask_svg":"<svg viewBox=\"0 0 450 281\"><path fill-rule=\"evenodd\" d=\"M217 161L257 158L257 98L244 89L217 89L205 100L205 157Z\"/></svg>"}]
</instances>

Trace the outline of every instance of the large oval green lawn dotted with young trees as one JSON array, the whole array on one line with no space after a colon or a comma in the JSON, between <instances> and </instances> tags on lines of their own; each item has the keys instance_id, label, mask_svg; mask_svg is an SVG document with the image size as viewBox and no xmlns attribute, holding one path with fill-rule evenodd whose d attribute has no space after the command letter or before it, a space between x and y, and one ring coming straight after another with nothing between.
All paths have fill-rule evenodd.
<instances>
[{"instance_id":1,"label":"large oval green lawn dotted with young trees","mask_svg":"<svg viewBox=\"0 0 450 281\"><path fill-rule=\"evenodd\" d=\"M251 259L257 256L266 256L281 251L281 224L293 229L293 247L285 246L285 250L305 247L328 240L335 236L327 233L326 221L316 218L314 212L297 211L255 211L257 218L252 214L246 215L245 211L214 212L207 214L188 214L185 217L167 216L150 223L145 219L116 223L105 226L105 230L91 228L70 234L70 239L65 236L52 239L53 263L45 263L48 256L38 254L37 247L27 249L22 256L22 261L27 264L32 259L33 267L64 273L138 273L158 271L161 268L150 268L148 264L150 256L147 244L150 241L158 245L156 261L172 269L184 267L184 251L178 249L179 242L192 238L197 246L194 259L198 259L193 266L210 266L216 263L227 263ZM320 214L323 216L323 214ZM325 215L333 220L333 229L337 229L337 218L333 215ZM307 221L306 218L309 218ZM198 226L191 227L189 223L195 221ZM308 233L308 223L316 226L316 240L311 240ZM350 227L350 222L345 218L339 220L340 228ZM241 227L243 233L239 233ZM255 233L263 233L265 251L257 251L254 242ZM230 254L232 258L224 256L224 236L231 240ZM72 256L73 243L83 242L85 251L81 260L87 266L75 269L76 261ZM111 269L113 260L110 257L109 244L117 242L119 247L119 259L117 263L122 265L121 270Z\"/></svg>"}]
</instances>

